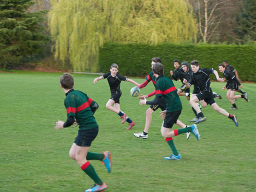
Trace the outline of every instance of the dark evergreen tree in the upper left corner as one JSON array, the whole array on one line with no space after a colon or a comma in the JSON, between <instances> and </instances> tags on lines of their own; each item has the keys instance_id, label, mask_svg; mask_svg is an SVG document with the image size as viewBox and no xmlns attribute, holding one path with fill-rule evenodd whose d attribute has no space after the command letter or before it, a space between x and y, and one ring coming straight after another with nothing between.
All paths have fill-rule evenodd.
<instances>
[{"instance_id":1,"label":"dark evergreen tree in the upper left corner","mask_svg":"<svg viewBox=\"0 0 256 192\"><path fill-rule=\"evenodd\" d=\"M44 50L49 37L42 33L40 23L47 11L26 12L35 3L0 0L0 64L4 69L10 63L18 63L22 56Z\"/></svg>"}]
</instances>

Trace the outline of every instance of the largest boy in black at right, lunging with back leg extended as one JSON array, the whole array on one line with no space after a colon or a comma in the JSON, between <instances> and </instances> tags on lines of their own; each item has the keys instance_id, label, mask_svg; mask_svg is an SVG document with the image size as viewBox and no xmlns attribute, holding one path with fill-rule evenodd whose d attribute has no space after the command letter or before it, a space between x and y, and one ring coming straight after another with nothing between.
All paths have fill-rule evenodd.
<instances>
[{"instance_id":1,"label":"largest boy in black at right, lunging with back leg extended","mask_svg":"<svg viewBox=\"0 0 256 192\"><path fill-rule=\"evenodd\" d=\"M186 84L188 87L191 87L192 84L197 84L200 89L200 93L190 100L191 107L193 107L199 115L199 120L195 123L200 123L206 120L206 117L204 116L199 106L197 105L198 101L205 100L205 102L201 102L203 108L205 108L208 104L211 105L212 108L214 108L214 110L230 118L234 121L235 125L238 126L236 115L231 115L225 109L218 107L217 103L213 98L212 89L210 87L211 80L209 74L214 73L217 80L219 82L223 82L223 79L219 78L218 72L213 69L200 69L197 60L192 60L190 64L193 73L191 75L189 82L186 79L184 79L183 83Z\"/></svg>"}]
</instances>

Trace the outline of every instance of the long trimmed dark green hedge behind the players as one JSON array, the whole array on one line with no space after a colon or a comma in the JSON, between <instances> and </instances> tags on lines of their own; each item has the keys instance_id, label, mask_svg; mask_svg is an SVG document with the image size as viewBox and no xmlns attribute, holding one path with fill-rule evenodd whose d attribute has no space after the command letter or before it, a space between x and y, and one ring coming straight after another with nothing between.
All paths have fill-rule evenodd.
<instances>
[{"instance_id":1,"label":"long trimmed dark green hedge behind the players","mask_svg":"<svg viewBox=\"0 0 256 192\"><path fill-rule=\"evenodd\" d=\"M256 46L195 45L195 44L142 44L106 43L100 48L99 70L109 72L110 65L116 63L119 73L127 76L145 76L151 71L151 59L159 57L163 61L165 74L174 70L173 60L180 62L198 60L200 68L214 68L224 60L238 71L242 81L256 82ZM219 72L219 71L218 71ZM220 77L222 74L219 72ZM211 75L215 79L214 75Z\"/></svg>"}]
</instances>

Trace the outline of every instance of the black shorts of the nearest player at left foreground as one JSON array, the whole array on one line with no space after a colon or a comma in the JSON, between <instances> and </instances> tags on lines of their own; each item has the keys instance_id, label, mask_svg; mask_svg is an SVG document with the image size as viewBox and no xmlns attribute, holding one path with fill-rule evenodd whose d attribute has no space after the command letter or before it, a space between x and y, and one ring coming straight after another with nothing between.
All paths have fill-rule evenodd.
<instances>
[{"instance_id":1,"label":"black shorts of the nearest player at left foreground","mask_svg":"<svg viewBox=\"0 0 256 192\"><path fill-rule=\"evenodd\" d=\"M78 135L74 141L75 144L81 147L90 147L91 142L96 138L99 132L99 127L86 130L78 130Z\"/></svg>"}]
</instances>

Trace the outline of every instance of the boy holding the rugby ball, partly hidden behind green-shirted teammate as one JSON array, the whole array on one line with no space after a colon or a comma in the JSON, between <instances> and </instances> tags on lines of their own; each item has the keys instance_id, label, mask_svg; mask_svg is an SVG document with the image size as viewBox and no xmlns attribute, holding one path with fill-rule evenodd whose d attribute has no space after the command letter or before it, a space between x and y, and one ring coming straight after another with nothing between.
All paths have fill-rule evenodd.
<instances>
[{"instance_id":1,"label":"boy holding the rugby ball, partly hidden behind green-shirted teammate","mask_svg":"<svg viewBox=\"0 0 256 192\"><path fill-rule=\"evenodd\" d=\"M153 69L154 64L157 63L157 62L162 63L162 60L158 57L152 58L151 69ZM149 75L147 75L145 77L145 79L146 79L146 81L144 83L140 84L140 86L139 86L140 89L147 86L147 84L151 81L152 81L152 83L154 84L154 87L155 87L156 77L154 76L153 71L151 71L149 73ZM143 98L148 98L148 97L151 97L151 96L154 96L154 95L155 95L155 89L149 95L144 96L144 95L141 94L141 96L139 96L138 98L143 99ZM142 138L142 139L147 139L148 138L148 131L149 131L150 123L152 121L152 114L158 108L161 108L162 111L166 110L166 100L163 97L161 98L160 103L158 103L156 105L151 105L150 108L148 108L148 110L146 111L146 124L145 124L144 131L139 132L139 133L133 133L133 135L135 137Z\"/></svg>"}]
</instances>

